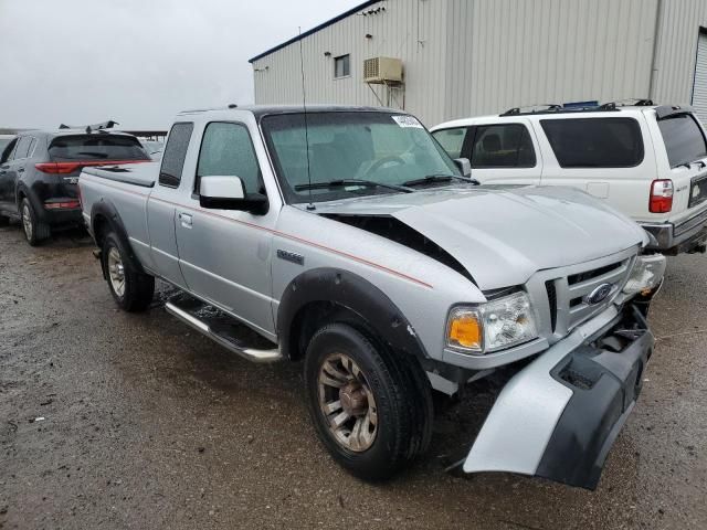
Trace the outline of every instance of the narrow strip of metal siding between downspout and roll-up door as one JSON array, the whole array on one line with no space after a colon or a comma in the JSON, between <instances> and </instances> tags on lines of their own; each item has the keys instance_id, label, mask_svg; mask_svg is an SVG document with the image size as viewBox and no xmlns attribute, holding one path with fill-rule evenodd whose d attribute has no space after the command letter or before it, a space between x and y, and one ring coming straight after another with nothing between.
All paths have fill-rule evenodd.
<instances>
[{"instance_id":1,"label":"narrow strip of metal siding between downspout and roll-up door","mask_svg":"<svg viewBox=\"0 0 707 530\"><path fill-rule=\"evenodd\" d=\"M700 26L707 28L707 0L663 0L655 72L657 102L692 102Z\"/></svg>"}]
</instances>

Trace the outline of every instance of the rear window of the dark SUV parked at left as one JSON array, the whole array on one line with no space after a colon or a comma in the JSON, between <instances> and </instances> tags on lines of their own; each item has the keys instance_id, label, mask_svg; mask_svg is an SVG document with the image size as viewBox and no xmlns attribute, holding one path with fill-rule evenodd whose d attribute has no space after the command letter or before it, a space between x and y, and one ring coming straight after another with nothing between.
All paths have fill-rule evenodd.
<instances>
[{"instance_id":1,"label":"rear window of the dark SUV parked at left","mask_svg":"<svg viewBox=\"0 0 707 530\"><path fill-rule=\"evenodd\" d=\"M54 161L150 160L137 138L101 132L56 137L49 146L49 156Z\"/></svg>"}]
</instances>

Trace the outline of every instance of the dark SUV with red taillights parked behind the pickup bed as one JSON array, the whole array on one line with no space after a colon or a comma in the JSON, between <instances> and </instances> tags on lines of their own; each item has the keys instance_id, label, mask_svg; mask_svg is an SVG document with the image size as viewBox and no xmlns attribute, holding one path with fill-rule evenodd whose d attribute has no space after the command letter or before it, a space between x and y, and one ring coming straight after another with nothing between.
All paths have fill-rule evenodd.
<instances>
[{"instance_id":1,"label":"dark SUV with red taillights parked behind the pickup bed","mask_svg":"<svg viewBox=\"0 0 707 530\"><path fill-rule=\"evenodd\" d=\"M91 129L21 132L0 156L0 223L21 221L30 245L83 226L78 174L86 166L150 160L134 136Z\"/></svg>"}]
</instances>

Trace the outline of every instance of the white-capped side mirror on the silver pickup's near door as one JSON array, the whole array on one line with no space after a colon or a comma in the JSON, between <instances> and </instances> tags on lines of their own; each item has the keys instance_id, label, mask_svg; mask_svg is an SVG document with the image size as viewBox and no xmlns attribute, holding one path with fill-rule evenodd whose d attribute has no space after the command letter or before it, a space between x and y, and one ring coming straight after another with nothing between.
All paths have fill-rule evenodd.
<instances>
[{"instance_id":1,"label":"white-capped side mirror on the silver pickup's near door","mask_svg":"<svg viewBox=\"0 0 707 530\"><path fill-rule=\"evenodd\" d=\"M240 177L210 174L199 181L199 205L263 215L267 212L268 202L262 193L246 193Z\"/></svg>"}]
</instances>

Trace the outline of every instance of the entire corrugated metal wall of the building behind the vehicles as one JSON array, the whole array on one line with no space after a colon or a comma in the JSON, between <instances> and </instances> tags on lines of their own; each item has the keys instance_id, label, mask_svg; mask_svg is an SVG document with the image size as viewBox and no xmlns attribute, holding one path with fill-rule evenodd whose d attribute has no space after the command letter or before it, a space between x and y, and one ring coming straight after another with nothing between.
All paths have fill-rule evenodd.
<instances>
[{"instance_id":1,"label":"entire corrugated metal wall of the building behind the vehicles","mask_svg":"<svg viewBox=\"0 0 707 530\"><path fill-rule=\"evenodd\" d=\"M382 0L303 40L307 100L378 105L365 59L403 60L404 100L428 125L538 103L647 97L658 0ZM688 104L707 0L663 0L654 99ZM366 39L366 34L373 35ZM324 53L330 52L330 57ZM334 57L351 76L334 80ZM299 43L254 63L256 103L302 103ZM374 87L386 103L384 89ZM398 105L395 104L398 103Z\"/></svg>"}]
</instances>

